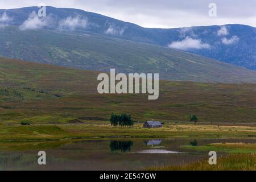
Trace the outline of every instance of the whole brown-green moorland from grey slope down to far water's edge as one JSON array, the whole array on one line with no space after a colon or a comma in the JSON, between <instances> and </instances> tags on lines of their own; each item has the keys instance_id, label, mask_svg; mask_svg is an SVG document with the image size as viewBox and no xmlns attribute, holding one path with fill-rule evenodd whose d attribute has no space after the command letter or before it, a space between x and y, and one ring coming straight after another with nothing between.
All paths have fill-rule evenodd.
<instances>
[{"instance_id":1,"label":"whole brown-green moorland from grey slope down to far water's edge","mask_svg":"<svg viewBox=\"0 0 256 182\"><path fill-rule=\"evenodd\" d=\"M150 101L147 94L98 94L98 73L1 58L0 140L255 136L255 84L160 81L159 99ZM136 124L104 124L111 113L131 114ZM199 118L196 126L189 114ZM164 127L137 123L152 118Z\"/></svg>"}]
</instances>

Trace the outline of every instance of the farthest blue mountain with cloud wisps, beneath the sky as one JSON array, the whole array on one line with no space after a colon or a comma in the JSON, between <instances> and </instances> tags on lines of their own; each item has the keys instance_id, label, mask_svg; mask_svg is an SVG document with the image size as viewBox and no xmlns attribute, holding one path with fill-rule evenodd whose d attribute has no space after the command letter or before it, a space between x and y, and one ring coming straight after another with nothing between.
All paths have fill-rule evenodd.
<instances>
[{"instance_id":1,"label":"farthest blue mountain with cloud wisps, beneath the sky","mask_svg":"<svg viewBox=\"0 0 256 182\"><path fill-rule=\"evenodd\" d=\"M254 27L228 24L170 29L143 28L133 23L77 9L47 7L47 17L38 18L35 16L38 10L38 7L24 7L0 10L0 14L9 17L8 24L20 26L23 30L46 28L82 34L91 32L181 49L225 63L256 69L256 28Z\"/></svg>"}]
</instances>

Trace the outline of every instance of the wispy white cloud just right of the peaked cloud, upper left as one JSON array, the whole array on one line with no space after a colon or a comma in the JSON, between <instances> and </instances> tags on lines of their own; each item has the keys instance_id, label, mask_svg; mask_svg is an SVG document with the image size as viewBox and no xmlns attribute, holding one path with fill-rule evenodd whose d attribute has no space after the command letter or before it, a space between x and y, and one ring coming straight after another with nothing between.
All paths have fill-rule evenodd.
<instances>
[{"instance_id":1,"label":"wispy white cloud just right of the peaked cloud, upper left","mask_svg":"<svg viewBox=\"0 0 256 182\"><path fill-rule=\"evenodd\" d=\"M68 18L62 19L59 22L60 30L75 30L76 28L86 28L88 24L87 19L81 18L80 16L68 16Z\"/></svg>"}]
</instances>

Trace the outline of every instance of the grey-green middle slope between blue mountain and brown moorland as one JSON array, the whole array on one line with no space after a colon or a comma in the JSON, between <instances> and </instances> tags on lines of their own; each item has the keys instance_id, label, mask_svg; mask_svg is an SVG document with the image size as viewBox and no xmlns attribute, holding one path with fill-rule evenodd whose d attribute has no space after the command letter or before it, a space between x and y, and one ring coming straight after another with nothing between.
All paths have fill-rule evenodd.
<instances>
[{"instance_id":1,"label":"grey-green middle slope between blue mountain and brown moorland","mask_svg":"<svg viewBox=\"0 0 256 182\"><path fill-rule=\"evenodd\" d=\"M256 72L191 53L98 34L0 29L0 55L68 67L159 73L164 80L256 82Z\"/></svg>"}]
</instances>

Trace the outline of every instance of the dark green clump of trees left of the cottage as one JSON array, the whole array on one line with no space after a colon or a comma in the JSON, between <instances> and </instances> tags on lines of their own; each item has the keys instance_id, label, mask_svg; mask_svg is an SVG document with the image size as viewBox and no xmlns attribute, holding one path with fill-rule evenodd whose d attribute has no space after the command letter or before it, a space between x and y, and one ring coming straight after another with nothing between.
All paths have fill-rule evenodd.
<instances>
[{"instance_id":1,"label":"dark green clump of trees left of the cottage","mask_svg":"<svg viewBox=\"0 0 256 182\"><path fill-rule=\"evenodd\" d=\"M118 115L118 114L111 114L110 123L112 126L133 126L133 119L131 119L131 115L127 115L125 113Z\"/></svg>"}]
</instances>

